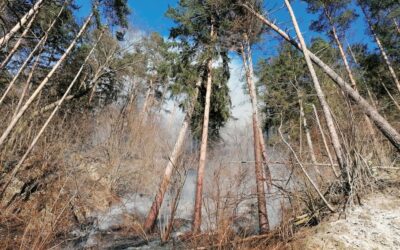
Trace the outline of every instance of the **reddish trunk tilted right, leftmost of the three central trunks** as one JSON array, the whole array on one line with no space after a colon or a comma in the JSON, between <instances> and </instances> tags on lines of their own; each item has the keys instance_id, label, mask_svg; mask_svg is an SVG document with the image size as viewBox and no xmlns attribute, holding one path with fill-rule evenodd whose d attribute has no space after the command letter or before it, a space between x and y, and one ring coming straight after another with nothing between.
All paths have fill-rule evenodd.
<instances>
[{"instance_id":1,"label":"reddish trunk tilted right, leftmost of the three central trunks","mask_svg":"<svg viewBox=\"0 0 400 250\"><path fill-rule=\"evenodd\" d=\"M194 104L198 97L200 84L201 84L201 80L196 84L195 92L194 92L192 100L189 104L190 106L188 107L188 109L186 111L186 115L183 120L181 129L179 130L178 138L175 142L174 149L172 150L172 153L169 157L167 167L165 168L165 171L164 171L164 176L160 183L160 187L154 198L153 204L151 205L150 211L147 214L146 221L143 224L143 229L145 232L149 232L151 229L153 229L155 222L157 220L158 213L160 211L162 202L164 200L165 193L167 192L169 183L171 181L173 170L178 163L179 155L182 152L182 148L184 146L186 134L189 129L190 121L191 121L192 114L194 111L194 106L195 106Z\"/></svg>"}]
</instances>

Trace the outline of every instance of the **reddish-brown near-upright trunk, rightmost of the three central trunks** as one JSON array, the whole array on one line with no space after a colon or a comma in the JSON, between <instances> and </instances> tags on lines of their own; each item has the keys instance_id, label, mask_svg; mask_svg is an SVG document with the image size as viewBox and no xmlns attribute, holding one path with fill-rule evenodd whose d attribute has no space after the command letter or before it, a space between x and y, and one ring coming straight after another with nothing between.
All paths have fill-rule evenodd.
<instances>
[{"instance_id":1,"label":"reddish-brown near-upright trunk, rightmost of the three central trunks","mask_svg":"<svg viewBox=\"0 0 400 250\"><path fill-rule=\"evenodd\" d=\"M246 46L248 39L245 38ZM264 171L262 168L262 154L261 154L261 137L260 124L258 121L258 108L257 108L257 96L256 89L253 83L252 72L249 68L248 58L250 54L245 53L243 44L240 45L240 53L242 55L243 65L246 71L247 88L250 94L251 106L252 106L252 120L253 120L253 143L254 143L254 160L255 160L255 173L256 173L256 187L257 187L257 204L258 204L258 224L259 233L267 233L269 231L268 213L267 213L267 201L265 198L265 187L264 187ZM248 51L248 50L247 50Z\"/></svg>"}]
</instances>

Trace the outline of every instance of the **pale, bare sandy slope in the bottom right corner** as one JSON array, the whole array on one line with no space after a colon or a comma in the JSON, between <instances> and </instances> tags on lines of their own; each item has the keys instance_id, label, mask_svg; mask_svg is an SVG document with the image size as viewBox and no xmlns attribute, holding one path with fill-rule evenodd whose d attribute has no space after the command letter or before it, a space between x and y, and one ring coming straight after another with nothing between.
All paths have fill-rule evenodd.
<instances>
[{"instance_id":1,"label":"pale, bare sandy slope in the bottom right corner","mask_svg":"<svg viewBox=\"0 0 400 250\"><path fill-rule=\"evenodd\" d=\"M293 249L400 249L400 170L380 171L376 190L346 214L301 230Z\"/></svg>"}]
</instances>

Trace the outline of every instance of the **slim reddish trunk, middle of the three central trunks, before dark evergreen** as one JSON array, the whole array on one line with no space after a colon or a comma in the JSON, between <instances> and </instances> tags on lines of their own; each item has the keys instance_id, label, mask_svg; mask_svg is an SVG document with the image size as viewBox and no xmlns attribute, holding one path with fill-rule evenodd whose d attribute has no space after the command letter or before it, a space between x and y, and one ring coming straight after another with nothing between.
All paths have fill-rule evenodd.
<instances>
[{"instance_id":1,"label":"slim reddish trunk, middle of the three central trunks, before dark evergreen","mask_svg":"<svg viewBox=\"0 0 400 250\"><path fill-rule=\"evenodd\" d=\"M210 37L213 39L215 37L214 24L211 24ZM193 214L193 224L192 232L194 234L201 231L201 208L202 208L202 198L203 198L203 180L204 180L204 170L206 167L206 157L207 157L207 144L208 144L208 121L210 116L210 100L211 100L211 87L212 87L212 58L208 59L207 62L207 86L206 86L206 99L204 104L204 118L203 118L203 130L201 135L200 144L200 157L199 157L199 167L197 169L197 185L196 185L196 197L194 203L194 214Z\"/></svg>"}]
</instances>

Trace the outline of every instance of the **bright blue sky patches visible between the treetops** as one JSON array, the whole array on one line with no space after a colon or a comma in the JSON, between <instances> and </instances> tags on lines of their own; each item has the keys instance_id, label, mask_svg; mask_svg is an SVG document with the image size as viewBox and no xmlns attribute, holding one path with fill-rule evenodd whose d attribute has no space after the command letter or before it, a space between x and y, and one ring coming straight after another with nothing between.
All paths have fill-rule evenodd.
<instances>
[{"instance_id":1,"label":"bright blue sky patches visible between the treetops","mask_svg":"<svg viewBox=\"0 0 400 250\"><path fill-rule=\"evenodd\" d=\"M294 31L290 22L289 15L286 8L283 6L282 0L265 1L266 9L273 10L271 18L276 20L280 27L288 30L293 36ZM90 1L87 0L76 0L79 6L82 6L79 16L85 16L90 10ZM169 29L174 25L173 22L165 17L165 12L169 6L176 6L178 0L128 0L128 4L132 10L132 15L129 17L130 25L135 29L142 30L144 32L159 32L164 37L168 37ZM353 6L354 7L354 6ZM309 25L312 20L318 18L317 15L313 15L307 12L307 4L303 1L296 0L293 2L293 9L296 13L300 28L303 31L304 37L308 42L312 38L322 36L324 34L318 34L309 30ZM369 36L365 35L365 24L360 17L353 23L352 27L346 34L346 38L349 43L364 42L367 43L371 48L374 48L374 44ZM267 37L267 40L256 46L255 54L256 60L260 56L268 57L276 53L277 42Z\"/></svg>"}]
</instances>

